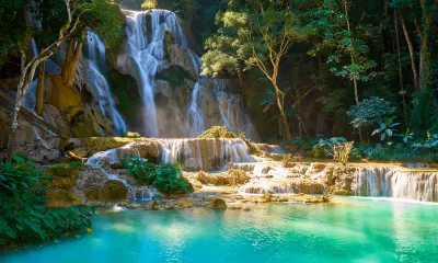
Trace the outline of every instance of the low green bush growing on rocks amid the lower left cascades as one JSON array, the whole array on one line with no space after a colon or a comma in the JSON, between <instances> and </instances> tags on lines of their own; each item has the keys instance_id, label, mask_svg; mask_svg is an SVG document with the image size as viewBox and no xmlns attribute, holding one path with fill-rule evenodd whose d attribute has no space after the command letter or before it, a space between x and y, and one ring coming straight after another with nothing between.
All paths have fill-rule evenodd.
<instances>
[{"instance_id":1,"label":"low green bush growing on rocks amid the lower left cascades","mask_svg":"<svg viewBox=\"0 0 438 263\"><path fill-rule=\"evenodd\" d=\"M122 160L122 167L128 169L129 174L136 176L140 183L153 185L162 193L184 194L193 192L193 187L183 176L178 163L157 165L148 162L145 158L130 156Z\"/></svg>"}]
</instances>

